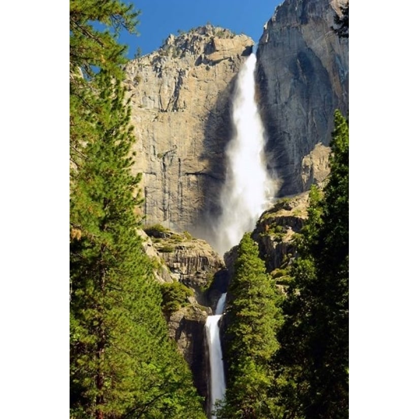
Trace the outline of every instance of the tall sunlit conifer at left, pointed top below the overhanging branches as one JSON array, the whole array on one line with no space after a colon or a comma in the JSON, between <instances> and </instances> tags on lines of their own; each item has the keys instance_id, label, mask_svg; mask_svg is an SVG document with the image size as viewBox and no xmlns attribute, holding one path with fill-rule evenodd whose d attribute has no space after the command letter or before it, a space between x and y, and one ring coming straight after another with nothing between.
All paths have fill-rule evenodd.
<instances>
[{"instance_id":1,"label":"tall sunlit conifer at left, pointed top below the overhanging branches","mask_svg":"<svg viewBox=\"0 0 419 419\"><path fill-rule=\"evenodd\" d=\"M161 294L136 234L139 176L121 83L94 79L95 136L71 195L71 417L204 417L167 336Z\"/></svg>"}]
</instances>

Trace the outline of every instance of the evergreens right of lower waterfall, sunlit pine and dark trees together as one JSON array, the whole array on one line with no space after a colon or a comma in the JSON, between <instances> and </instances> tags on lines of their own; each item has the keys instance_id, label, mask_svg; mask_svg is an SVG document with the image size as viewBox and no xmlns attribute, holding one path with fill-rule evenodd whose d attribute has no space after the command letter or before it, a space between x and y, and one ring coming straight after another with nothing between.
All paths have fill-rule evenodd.
<instances>
[{"instance_id":1,"label":"evergreens right of lower waterfall, sunlit pine and dark trees together","mask_svg":"<svg viewBox=\"0 0 419 419\"><path fill-rule=\"evenodd\" d=\"M219 418L348 417L349 128L339 111L331 148L327 184L310 190L286 296L275 292L250 236L240 242Z\"/></svg>"}]
</instances>

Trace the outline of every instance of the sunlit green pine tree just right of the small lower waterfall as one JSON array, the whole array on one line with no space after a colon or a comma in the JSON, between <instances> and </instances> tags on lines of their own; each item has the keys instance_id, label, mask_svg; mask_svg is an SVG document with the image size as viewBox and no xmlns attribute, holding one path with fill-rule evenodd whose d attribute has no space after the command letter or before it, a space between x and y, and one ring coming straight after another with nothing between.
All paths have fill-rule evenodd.
<instances>
[{"instance_id":1,"label":"sunlit green pine tree just right of the small lower waterfall","mask_svg":"<svg viewBox=\"0 0 419 419\"><path fill-rule=\"evenodd\" d=\"M271 417L275 407L269 393L273 380L269 362L277 349L279 296L249 233L239 244L228 295L228 380L225 402L217 417Z\"/></svg>"}]
</instances>

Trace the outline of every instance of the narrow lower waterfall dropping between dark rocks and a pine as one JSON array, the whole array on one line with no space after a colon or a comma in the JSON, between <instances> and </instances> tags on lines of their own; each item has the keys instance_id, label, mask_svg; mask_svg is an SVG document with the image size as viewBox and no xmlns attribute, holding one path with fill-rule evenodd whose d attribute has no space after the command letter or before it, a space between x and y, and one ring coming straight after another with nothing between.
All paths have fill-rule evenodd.
<instances>
[{"instance_id":1,"label":"narrow lower waterfall dropping between dark rocks and a pine","mask_svg":"<svg viewBox=\"0 0 419 419\"><path fill-rule=\"evenodd\" d=\"M225 393L219 320L222 317L226 295L225 293L221 295L217 302L215 315L208 316L205 323L211 369L211 410L214 409L215 401L222 400ZM213 415L212 418L215 419L216 416Z\"/></svg>"}]
</instances>

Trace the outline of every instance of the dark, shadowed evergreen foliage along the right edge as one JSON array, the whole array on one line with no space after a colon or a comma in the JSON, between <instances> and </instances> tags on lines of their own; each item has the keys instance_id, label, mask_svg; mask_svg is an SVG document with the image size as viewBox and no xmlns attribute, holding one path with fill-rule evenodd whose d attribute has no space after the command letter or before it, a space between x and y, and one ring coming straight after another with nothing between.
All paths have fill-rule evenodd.
<instances>
[{"instance_id":1,"label":"dark, shadowed evergreen foliage along the right edge","mask_svg":"<svg viewBox=\"0 0 419 419\"><path fill-rule=\"evenodd\" d=\"M332 137L331 174L323 198L315 187L310 192L278 335L287 418L348 417L349 128L339 111Z\"/></svg>"}]
</instances>

